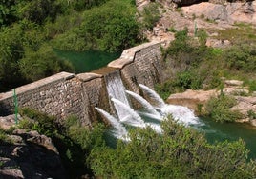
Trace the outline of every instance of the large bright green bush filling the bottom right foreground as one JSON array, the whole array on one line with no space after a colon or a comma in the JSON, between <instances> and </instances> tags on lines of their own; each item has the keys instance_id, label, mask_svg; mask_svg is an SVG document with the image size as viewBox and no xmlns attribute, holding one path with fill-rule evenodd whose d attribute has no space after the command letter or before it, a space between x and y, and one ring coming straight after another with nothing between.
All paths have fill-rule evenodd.
<instances>
[{"instance_id":1,"label":"large bright green bush filling the bottom right foreground","mask_svg":"<svg viewBox=\"0 0 256 179\"><path fill-rule=\"evenodd\" d=\"M92 150L91 167L102 178L253 178L255 161L246 162L242 140L210 145L203 134L173 120L162 123L162 134L134 129L129 143L117 149ZM251 170L252 169L252 170Z\"/></svg>"}]
</instances>

